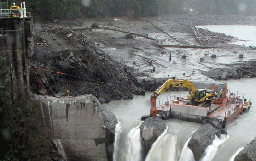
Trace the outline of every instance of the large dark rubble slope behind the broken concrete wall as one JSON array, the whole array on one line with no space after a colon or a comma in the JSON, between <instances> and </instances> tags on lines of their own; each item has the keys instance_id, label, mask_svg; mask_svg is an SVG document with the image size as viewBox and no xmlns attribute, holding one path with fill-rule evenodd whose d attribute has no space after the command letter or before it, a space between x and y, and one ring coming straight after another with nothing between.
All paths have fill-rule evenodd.
<instances>
[{"instance_id":1,"label":"large dark rubble slope behind the broken concrete wall","mask_svg":"<svg viewBox=\"0 0 256 161\"><path fill-rule=\"evenodd\" d=\"M113 60L90 39L64 27L35 33L31 66L37 67L32 68L30 74L31 90L35 94L78 96L89 93L104 103L145 94L135 85L133 68Z\"/></svg>"}]
</instances>

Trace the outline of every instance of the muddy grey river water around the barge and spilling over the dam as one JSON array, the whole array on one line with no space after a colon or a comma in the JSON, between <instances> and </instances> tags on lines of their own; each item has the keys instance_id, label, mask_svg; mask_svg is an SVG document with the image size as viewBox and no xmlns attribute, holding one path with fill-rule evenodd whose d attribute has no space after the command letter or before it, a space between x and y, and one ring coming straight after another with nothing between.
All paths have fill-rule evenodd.
<instances>
[{"instance_id":1,"label":"muddy grey river water around the barge and spilling over the dam","mask_svg":"<svg viewBox=\"0 0 256 161\"><path fill-rule=\"evenodd\" d=\"M229 90L234 90L242 96L251 97L252 107L249 111L240 115L231 124L226 126L228 132L227 138L215 140L215 144L209 147L209 154L206 156L209 161L230 161L233 155L242 147L250 143L256 136L256 78L246 78L240 80L227 81ZM118 139L115 143L115 161L141 161L142 153L140 147L140 136L137 126L140 124L140 117L149 114L149 99L152 92L147 92L145 96L134 96L133 100L113 101L104 104L106 108L112 111L120 122ZM180 92L165 92L157 100L157 105L165 100L173 99L174 95L180 96ZM182 96L187 92L182 92ZM146 157L147 161L193 161L191 151L186 147L186 142L191 134L201 127L201 124L194 122L185 122L175 119L165 121L168 130L164 136L157 141L151 152ZM185 145L185 146L184 146ZM139 155L139 156L138 156ZM157 156L156 156L157 155Z\"/></svg>"}]
</instances>

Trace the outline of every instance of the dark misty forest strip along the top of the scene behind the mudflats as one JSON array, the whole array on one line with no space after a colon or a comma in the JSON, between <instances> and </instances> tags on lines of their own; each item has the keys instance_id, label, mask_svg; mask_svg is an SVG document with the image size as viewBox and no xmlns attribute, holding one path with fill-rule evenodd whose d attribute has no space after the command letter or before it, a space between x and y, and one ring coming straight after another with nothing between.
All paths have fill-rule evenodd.
<instances>
[{"instance_id":1,"label":"dark misty forest strip along the top of the scene behind the mudflats","mask_svg":"<svg viewBox=\"0 0 256 161\"><path fill-rule=\"evenodd\" d=\"M255 15L256 0L24 0L35 19L154 17L162 14ZM19 4L20 1L9 0ZM17 6L17 5L16 5Z\"/></svg>"}]
</instances>

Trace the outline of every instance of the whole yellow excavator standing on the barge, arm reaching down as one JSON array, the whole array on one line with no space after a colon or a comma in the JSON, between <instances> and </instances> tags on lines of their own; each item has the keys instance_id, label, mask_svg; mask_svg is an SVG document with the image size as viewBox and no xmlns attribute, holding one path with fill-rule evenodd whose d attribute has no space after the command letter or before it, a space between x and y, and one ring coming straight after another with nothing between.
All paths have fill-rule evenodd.
<instances>
[{"instance_id":1,"label":"whole yellow excavator standing on the barge, arm reaching down","mask_svg":"<svg viewBox=\"0 0 256 161\"><path fill-rule=\"evenodd\" d=\"M215 90L209 89L196 89L195 85L186 80L186 79L168 79L163 85L157 89L154 94L150 97L151 109L150 109L150 117L157 116L156 109L156 99L159 95L163 94L164 91L169 89L170 87L186 87L189 89L188 99L192 100L192 104L190 105L198 105L201 102L209 101L209 105L211 104L211 100L217 98L217 93Z\"/></svg>"}]
</instances>

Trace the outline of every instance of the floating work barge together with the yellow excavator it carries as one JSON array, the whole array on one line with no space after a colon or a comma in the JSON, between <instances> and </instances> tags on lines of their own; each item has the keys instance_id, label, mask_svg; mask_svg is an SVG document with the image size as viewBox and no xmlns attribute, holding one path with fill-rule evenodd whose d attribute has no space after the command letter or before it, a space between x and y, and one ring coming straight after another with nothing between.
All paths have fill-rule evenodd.
<instances>
[{"instance_id":1,"label":"floating work barge together with the yellow excavator it carries","mask_svg":"<svg viewBox=\"0 0 256 161\"><path fill-rule=\"evenodd\" d=\"M146 117L161 117L164 120L175 118L203 124L207 122L215 124L215 126L219 128L225 128L227 124L236 119L240 114L250 109L250 98L247 100L244 98L244 94L240 98L234 92L229 91L228 93L227 83L213 83L210 85L211 93L213 93L213 91L216 91L217 93L216 97L214 98L212 96L208 96L205 98L205 100L196 102L195 100L199 100L204 96L198 96L199 99L195 99L197 96L193 96L192 92L190 91L188 98L174 96L173 100L167 100L162 105L160 105L159 102L157 106L154 102L155 100L153 99L162 94L170 86L178 87L175 85L175 82L176 84L179 84L179 82L184 82L184 80L172 80L169 85L164 83L159 89L157 89L156 92L154 92L154 94L151 96L151 114L148 116L143 116L142 120L144 120ZM185 80L185 82L189 81ZM181 84L179 86L184 85ZM191 87L188 88L192 89ZM162 93L159 92L159 90L161 91L162 89L164 89L164 91L162 91ZM202 91L202 89L199 89L198 91ZM156 116L152 116L154 108L157 113Z\"/></svg>"}]
</instances>

